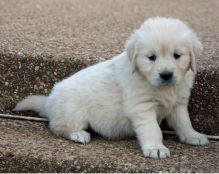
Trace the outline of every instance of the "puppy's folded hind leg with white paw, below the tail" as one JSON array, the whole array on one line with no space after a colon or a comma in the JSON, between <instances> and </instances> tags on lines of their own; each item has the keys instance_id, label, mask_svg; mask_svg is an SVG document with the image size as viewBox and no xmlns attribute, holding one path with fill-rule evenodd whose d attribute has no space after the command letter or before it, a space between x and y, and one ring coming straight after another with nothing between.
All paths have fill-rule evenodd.
<instances>
[{"instance_id":1,"label":"puppy's folded hind leg with white paw, below the tail","mask_svg":"<svg viewBox=\"0 0 219 174\"><path fill-rule=\"evenodd\" d=\"M56 119L50 121L49 126L53 133L66 139L82 144L87 144L90 142L90 133L85 131L88 127L88 123L81 122L75 126L75 124L71 121Z\"/></svg>"}]
</instances>

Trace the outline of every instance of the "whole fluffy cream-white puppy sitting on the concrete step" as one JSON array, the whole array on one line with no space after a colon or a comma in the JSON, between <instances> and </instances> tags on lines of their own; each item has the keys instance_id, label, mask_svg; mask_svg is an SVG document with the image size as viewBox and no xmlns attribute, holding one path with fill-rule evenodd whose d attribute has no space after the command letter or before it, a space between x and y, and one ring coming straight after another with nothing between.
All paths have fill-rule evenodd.
<instances>
[{"instance_id":1,"label":"whole fluffy cream-white puppy sitting on the concrete step","mask_svg":"<svg viewBox=\"0 0 219 174\"><path fill-rule=\"evenodd\" d=\"M136 30L126 50L54 86L49 96L29 96L14 111L33 110L49 119L52 132L89 143L88 127L115 139L136 135L145 157L166 158L163 119L183 143L206 145L187 110L202 51L196 34L173 18L151 18Z\"/></svg>"}]
</instances>

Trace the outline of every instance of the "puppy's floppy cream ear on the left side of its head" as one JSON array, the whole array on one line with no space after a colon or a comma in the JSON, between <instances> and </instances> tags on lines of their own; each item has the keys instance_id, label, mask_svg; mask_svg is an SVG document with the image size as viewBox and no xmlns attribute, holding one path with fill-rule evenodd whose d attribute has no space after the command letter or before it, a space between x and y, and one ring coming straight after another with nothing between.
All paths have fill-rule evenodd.
<instances>
[{"instance_id":1,"label":"puppy's floppy cream ear on the left side of its head","mask_svg":"<svg viewBox=\"0 0 219 174\"><path fill-rule=\"evenodd\" d=\"M136 38L136 34L134 33L126 41L125 44L125 49L131 63L132 73L134 73L136 70L136 57L137 57L136 43L137 43L137 38Z\"/></svg>"}]
</instances>

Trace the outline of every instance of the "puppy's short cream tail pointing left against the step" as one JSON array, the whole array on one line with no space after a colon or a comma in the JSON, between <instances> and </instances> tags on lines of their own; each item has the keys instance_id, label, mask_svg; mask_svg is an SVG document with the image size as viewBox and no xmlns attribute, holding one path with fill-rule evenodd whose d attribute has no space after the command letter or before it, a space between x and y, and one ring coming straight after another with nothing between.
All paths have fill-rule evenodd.
<instances>
[{"instance_id":1,"label":"puppy's short cream tail pointing left against the step","mask_svg":"<svg viewBox=\"0 0 219 174\"><path fill-rule=\"evenodd\" d=\"M32 110L35 112L43 113L43 108L45 105L47 97L43 95L33 95L28 96L22 101L18 102L13 111L25 111Z\"/></svg>"}]
</instances>

